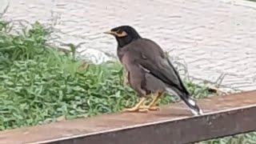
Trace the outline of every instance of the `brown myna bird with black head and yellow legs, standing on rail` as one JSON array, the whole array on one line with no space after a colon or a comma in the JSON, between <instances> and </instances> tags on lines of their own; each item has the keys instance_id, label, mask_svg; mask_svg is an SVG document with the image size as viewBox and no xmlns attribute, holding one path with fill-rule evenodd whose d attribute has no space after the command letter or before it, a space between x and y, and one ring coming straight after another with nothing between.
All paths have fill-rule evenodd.
<instances>
[{"instance_id":1,"label":"brown myna bird with black head and yellow legs, standing on rail","mask_svg":"<svg viewBox=\"0 0 256 144\"><path fill-rule=\"evenodd\" d=\"M193 114L202 114L183 85L178 71L157 43L142 38L131 26L118 26L105 34L116 38L118 58L125 67L128 83L140 97L138 104L126 111L157 110L158 98L167 92L179 96ZM153 100L146 106L144 102L149 96L153 96Z\"/></svg>"}]
</instances>

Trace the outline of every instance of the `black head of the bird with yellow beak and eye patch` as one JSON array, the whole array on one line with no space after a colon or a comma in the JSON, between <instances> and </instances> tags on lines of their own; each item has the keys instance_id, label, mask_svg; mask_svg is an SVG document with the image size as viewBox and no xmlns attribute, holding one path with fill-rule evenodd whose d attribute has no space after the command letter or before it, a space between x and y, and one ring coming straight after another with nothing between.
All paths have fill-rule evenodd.
<instances>
[{"instance_id":1,"label":"black head of the bird with yellow beak and eye patch","mask_svg":"<svg viewBox=\"0 0 256 144\"><path fill-rule=\"evenodd\" d=\"M118 26L104 33L113 35L118 41L118 47L120 48L141 38L138 32L131 26Z\"/></svg>"}]
</instances>

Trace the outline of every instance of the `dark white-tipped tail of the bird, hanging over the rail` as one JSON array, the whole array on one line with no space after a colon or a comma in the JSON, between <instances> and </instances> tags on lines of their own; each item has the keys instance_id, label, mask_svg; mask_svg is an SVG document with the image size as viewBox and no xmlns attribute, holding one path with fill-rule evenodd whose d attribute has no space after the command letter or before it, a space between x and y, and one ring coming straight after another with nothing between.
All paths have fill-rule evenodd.
<instances>
[{"instance_id":1,"label":"dark white-tipped tail of the bird, hanging over the rail","mask_svg":"<svg viewBox=\"0 0 256 144\"><path fill-rule=\"evenodd\" d=\"M180 92L179 90L172 90L170 88L166 88L167 93L169 94L175 94L178 95L183 102L186 103L186 106L190 107L191 112L194 115L201 115L202 114L202 110L199 108L199 106L196 104L196 102L194 101L194 99L192 99L190 97L190 95L188 94L184 94L182 92Z\"/></svg>"}]
</instances>

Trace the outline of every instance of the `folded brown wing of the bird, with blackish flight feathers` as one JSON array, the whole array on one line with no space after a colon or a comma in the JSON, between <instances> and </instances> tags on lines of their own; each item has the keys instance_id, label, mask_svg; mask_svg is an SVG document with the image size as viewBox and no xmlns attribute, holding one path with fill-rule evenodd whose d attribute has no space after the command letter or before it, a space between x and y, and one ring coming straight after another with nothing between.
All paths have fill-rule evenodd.
<instances>
[{"instance_id":1,"label":"folded brown wing of the bird, with blackish flight feathers","mask_svg":"<svg viewBox=\"0 0 256 144\"><path fill-rule=\"evenodd\" d=\"M147 73L153 74L162 82L188 94L178 72L155 42L148 39L139 40L134 42L133 46L130 46L129 52L135 56L134 64L140 66Z\"/></svg>"}]
</instances>

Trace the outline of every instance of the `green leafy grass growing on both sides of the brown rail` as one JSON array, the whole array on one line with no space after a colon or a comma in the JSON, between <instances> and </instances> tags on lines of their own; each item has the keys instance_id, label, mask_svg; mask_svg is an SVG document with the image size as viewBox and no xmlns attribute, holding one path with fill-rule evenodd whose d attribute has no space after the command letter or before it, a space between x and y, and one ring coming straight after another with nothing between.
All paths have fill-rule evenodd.
<instances>
[{"instance_id":1,"label":"green leafy grass growing on both sides of the brown rail","mask_svg":"<svg viewBox=\"0 0 256 144\"><path fill-rule=\"evenodd\" d=\"M10 34L10 29L8 22L0 21L0 130L118 112L138 102L134 91L122 84L119 62L94 65L74 59L72 53L60 54L46 44L50 31L37 22L18 34ZM213 95L205 86L185 84L194 98ZM166 96L161 105L170 102L177 99ZM241 138L256 143L255 135L204 143Z\"/></svg>"}]
</instances>

